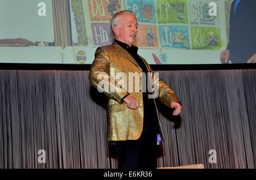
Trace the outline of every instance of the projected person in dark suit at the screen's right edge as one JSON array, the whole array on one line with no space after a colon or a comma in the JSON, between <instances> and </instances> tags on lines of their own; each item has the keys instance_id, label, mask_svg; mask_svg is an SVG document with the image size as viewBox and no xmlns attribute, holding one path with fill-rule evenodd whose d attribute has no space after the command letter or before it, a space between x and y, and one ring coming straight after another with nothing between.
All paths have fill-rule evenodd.
<instances>
[{"instance_id":1,"label":"projected person in dark suit at the screen's right edge","mask_svg":"<svg viewBox=\"0 0 256 180\"><path fill-rule=\"evenodd\" d=\"M256 1L235 0L230 8L229 44L220 54L221 63L256 62Z\"/></svg>"}]
</instances>

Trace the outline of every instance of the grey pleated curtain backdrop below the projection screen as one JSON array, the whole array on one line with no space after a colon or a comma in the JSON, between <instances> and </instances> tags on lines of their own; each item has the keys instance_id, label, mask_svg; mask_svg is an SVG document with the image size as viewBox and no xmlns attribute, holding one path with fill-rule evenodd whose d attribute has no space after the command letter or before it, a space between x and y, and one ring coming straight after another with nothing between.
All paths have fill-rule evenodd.
<instances>
[{"instance_id":1,"label":"grey pleated curtain backdrop below the projection screen","mask_svg":"<svg viewBox=\"0 0 256 180\"><path fill-rule=\"evenodd\" d=\"M158 101L166 140L158 167L255 168L255 70L158 72L183 104L173 117ZM88 75L0 70L0 168L117 168L106 141L106 97Z\"/></svg>"}]
</instances>

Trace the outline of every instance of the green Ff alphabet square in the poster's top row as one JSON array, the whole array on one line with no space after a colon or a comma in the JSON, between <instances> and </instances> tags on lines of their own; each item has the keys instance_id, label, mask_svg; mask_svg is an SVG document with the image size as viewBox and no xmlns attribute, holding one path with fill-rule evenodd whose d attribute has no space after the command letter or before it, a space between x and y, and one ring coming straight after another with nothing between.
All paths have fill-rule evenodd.
<instances>
[{"instance_id":1,"label":"green Ff alphabet square in the poster's top row","mask_svg":"<svg viewBox=\"0 0 256 180\"><path fill-rule=\"evenodd\" d=\"M188 24L187 1L162 0L156 2L156 14L159 24Z\"/></svg>"}]
</instances>

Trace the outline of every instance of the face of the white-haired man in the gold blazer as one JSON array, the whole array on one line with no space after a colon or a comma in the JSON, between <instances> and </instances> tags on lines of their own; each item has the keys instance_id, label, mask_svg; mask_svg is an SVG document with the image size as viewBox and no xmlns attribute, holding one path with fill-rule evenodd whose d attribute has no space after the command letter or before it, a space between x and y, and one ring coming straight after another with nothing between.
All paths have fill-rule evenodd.
<instances>
[{"instance_id":1,"label":"face of the white-haired man in the gold blazer","mask_svg":"<svg viewBox=\"0 0 256 180\"><path fill-rule=\"evenodd\" d=\"M113 27L117 40L131 46L136 41L138 22L132 14L122 14L118 18L117 25Z\"/></svg>"}]
</instances>

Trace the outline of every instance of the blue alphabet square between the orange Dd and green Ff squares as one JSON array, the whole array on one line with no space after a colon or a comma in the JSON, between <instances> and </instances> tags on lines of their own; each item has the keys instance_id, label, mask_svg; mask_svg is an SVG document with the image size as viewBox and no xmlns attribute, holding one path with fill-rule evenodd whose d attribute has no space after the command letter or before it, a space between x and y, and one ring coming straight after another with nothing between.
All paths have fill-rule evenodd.
<instances>
[{"instance_id":1,"label":"blue alphabet square between the orange Dd and green Ff squares","mask_svg":"<svg viewBox=\"0 0 256 180\"><path fill-rule=\"evenodd\" d=\"M126 10L137 14L138 23L156 23L154 0L125 0Z\"/></svg>"}]
</instances>

